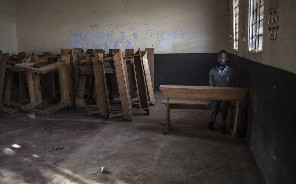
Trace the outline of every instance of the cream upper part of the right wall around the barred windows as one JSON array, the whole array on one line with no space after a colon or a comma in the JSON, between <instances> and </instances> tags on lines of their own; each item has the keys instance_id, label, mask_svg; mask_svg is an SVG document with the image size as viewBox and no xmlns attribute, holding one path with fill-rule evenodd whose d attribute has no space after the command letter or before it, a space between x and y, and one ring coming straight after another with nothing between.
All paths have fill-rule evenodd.
<instances>
[{"instance_id":1,"label":"cream upper part of the right wall around the barred windows","mask_svg":"<svg viewBox=\"0 0 296 184\"><path fill-rule=\"evenodd\" d=\"M265 0L263 22L263 52L248 52L249 35L249 1L239 0L239 50L229 50L232 54L245 57L255 62L267 64L276 68L284 69L296 74L296 1L295 0ZM232 0L229 0L230 29L232 34ZM279 33L276 40L269 39L268 17L269 11L278 8ZM242 41L242 27L246 25L246 41ZM229 38L230 39L230 38Z\"/></svg>"}]
</instances>

